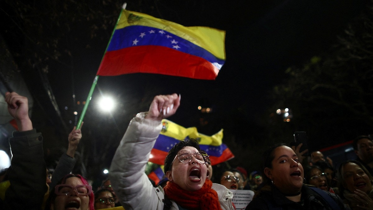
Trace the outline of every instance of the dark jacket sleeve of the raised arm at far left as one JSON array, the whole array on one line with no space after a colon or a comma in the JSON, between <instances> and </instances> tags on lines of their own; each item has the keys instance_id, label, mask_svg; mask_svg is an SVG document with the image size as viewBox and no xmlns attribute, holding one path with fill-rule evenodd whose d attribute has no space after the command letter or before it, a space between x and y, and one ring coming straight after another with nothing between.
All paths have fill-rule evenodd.
<instances>
[{"instance_id":1,"label":"dark jacket sleeve of the raised arm at far left","mask_svg":"<svg viewBox=\"0 0 373 210\"><path fill-rule=\"evenodd\" d=\"M10 186L5 192L4 209L41 209L47 192L43 136L35 129L13 132L8 169Z\"/></svg>"}]
</instances>

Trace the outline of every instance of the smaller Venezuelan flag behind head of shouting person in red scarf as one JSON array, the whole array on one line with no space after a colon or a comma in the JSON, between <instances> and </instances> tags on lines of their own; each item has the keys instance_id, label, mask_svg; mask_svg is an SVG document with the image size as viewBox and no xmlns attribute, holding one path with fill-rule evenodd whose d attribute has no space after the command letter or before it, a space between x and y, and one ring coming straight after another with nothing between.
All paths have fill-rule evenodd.
<instances>
[{"instance_id":1,"label":"smaller Venezuelan flag behind head of shouting person in red scarf","mask_svg":"<svg viewBox=\"0 0 373 210\"><path fill-rule=\"evenodd\" d=\"M196 139L201 150L210 155L212 165L222 163L234 157L231 150L222 142L223 129L212 136L197 132L197 128L185 128L169 120L162 120L162 131L150 153L149 161L163 165L167 152L180 140Z\"/></svg>"}]
</instances>

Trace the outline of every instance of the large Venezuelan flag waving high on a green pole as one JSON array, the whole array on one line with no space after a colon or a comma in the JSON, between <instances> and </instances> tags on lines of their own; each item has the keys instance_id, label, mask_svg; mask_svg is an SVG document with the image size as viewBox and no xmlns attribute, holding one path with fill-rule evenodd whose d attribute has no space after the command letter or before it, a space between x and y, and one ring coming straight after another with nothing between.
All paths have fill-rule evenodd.
<instances>
[{"instance_id":1,"label":"large Venezuelan flag waving high on a green pole","mask_svg":"<svg viewBox=\"0 0 373 210\"><path fill-rule=\"evenodd\" d=\"M97 75L154 73L213 80L225 62L225 31L184 27L122 10Z\"/></svg>"}]
</instances>

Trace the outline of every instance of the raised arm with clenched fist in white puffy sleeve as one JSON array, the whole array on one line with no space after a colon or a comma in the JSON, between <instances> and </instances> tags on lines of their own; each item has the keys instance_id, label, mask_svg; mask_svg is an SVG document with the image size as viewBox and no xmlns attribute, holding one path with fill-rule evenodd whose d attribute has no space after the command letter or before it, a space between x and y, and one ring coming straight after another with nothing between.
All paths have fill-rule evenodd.
<instances>
[{"instance_id":1,"label":"raised arm with clenched fist in white puffy sleeve","mask_svg":"<svg viewBox=\"0 0 373 210\"><path fill-rule=\"evenodd\" d=\"M162 129L161 120L175 114L180 96L154 97L148 112L131 120L110 166L109 179L125 209L163 209L163 192L145 175L150 151Z\"/></svg>"}]
</instances>

